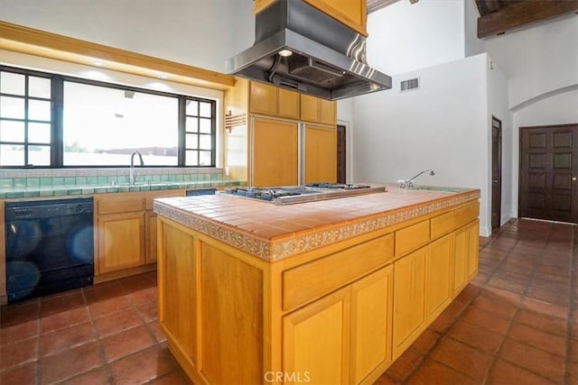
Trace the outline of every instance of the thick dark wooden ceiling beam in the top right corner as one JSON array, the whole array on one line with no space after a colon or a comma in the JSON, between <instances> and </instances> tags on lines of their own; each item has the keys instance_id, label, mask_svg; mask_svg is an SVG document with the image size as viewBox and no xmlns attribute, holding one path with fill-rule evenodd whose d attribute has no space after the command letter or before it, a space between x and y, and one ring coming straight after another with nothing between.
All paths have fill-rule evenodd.
<instances>
[{"instance_id":1,"label":"thick dark wooden ceiling beam in the top right corner","mask_svg":"<svg viewBox=\"0 0 578 385\"><path fill-rule=\"evenodd\" d=\"M578 13L578 0L525 0L478 18L478 38L485 38L527 23Z\"/></svg>"}]
</instances>

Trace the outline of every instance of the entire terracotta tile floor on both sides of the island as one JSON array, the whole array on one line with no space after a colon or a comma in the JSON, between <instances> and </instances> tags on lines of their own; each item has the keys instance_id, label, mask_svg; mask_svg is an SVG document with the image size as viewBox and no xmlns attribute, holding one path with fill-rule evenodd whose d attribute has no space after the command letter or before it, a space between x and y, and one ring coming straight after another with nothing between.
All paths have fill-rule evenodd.
<instances>
[{"instance_id":1,"label":"entire terracotta tile floor on both sides of the island","mask_svg":"<svg viewBox=\"0 0 578 385\"><path fill-rule=\"evenodd\" d=\"M0 384L189 383L157 325L155 273L0 308ZM578 384L578 229L518 220L376 384Z\"/></svg>"}]
</instances>

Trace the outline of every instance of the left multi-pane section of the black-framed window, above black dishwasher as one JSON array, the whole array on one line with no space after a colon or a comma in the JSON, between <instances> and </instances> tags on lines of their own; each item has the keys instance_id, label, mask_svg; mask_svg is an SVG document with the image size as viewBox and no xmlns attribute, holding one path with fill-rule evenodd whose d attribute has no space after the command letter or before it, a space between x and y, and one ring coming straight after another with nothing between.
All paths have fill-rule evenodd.
<instances>
[{"instance_id":1,"label":"left multi-pane section of the black-framed window, above black dishwasher","mask_svg":"<svg viewBox=\"0 0 578 385\"><path fill-rule=\"evenodd\" d=\"M51 78L0 72L0 165L50 166Z\"/></svg>"}]
</instances>

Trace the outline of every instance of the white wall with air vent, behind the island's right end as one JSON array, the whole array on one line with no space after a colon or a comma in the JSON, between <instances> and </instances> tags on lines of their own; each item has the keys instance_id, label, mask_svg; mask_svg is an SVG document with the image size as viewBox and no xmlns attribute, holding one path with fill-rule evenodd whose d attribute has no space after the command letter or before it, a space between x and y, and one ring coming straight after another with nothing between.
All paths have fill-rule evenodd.
<instances>
[{"instance_id":1,"label":"white wall with air vent, behind the island's right end","mask_svg":"<svg viewBox=\"0 0 578 385\"><path fill-rule=\"evenodd\" d=\"M357 96L355 160L359 181L396 181L433 168L421 184L480 188L481 234L489 234L487 55L405 73L387 91ZM420 78L420 89L400 93L399 81Z\"/></svg>"}]
</instances>

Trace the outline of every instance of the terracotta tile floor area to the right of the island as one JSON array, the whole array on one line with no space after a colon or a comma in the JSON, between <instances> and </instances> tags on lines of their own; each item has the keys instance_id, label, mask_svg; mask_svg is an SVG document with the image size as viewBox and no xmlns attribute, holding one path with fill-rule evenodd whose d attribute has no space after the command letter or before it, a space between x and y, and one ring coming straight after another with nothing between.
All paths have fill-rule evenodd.
<instances>
[{"instance_id":1,"label":"terracotta tile floor area to the right of the island","mask_svg":"<svg viewBox=\"0 0 578 385\"><path fill-rule=\"evenodd\" d=\"M376 384L578 384L578 228L511 221L480 273Z\"/></svg>"}]
</instances>

